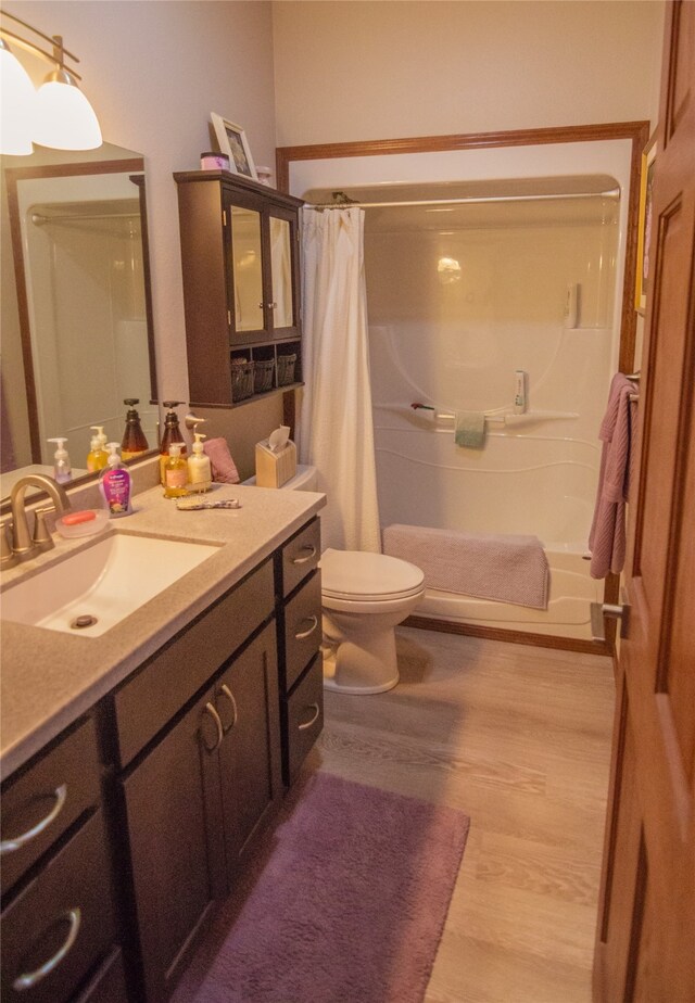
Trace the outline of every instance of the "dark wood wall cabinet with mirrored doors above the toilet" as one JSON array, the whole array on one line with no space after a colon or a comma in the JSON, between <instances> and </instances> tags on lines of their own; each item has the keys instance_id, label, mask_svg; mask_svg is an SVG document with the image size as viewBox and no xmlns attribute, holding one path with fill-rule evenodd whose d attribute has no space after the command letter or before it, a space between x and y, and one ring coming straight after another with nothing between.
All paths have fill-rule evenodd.
<instances>
[{"instance_id":1,"label":"dark wood wall cabinet with mirrored doors above the toilet","mask_svg":"<svg viewBox=\"0 0 695 1003\"><path fill-rule=\"evenodd\" d=\"M174 178L191 405L301 384L301 200L228 172Z\"/></svg>"}]
</instances>

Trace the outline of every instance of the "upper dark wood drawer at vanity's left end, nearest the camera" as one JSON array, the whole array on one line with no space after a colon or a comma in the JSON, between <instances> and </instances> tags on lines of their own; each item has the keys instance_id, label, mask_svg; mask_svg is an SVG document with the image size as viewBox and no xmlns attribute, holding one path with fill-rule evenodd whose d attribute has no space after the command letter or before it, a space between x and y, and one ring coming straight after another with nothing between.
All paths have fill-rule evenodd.
<instances>
[{"instance_id":1,"label":"upper dark wood drawer at vanity's left end, nearest the camera","mask_svg":"<svg viewBox=\"0 0 695 1003\"><path fill-rule=\"evenodd\" d=\"M2 893L86 809L99 800L99 752L91 718L2 791Z\"/></svg>"}]
</instances>

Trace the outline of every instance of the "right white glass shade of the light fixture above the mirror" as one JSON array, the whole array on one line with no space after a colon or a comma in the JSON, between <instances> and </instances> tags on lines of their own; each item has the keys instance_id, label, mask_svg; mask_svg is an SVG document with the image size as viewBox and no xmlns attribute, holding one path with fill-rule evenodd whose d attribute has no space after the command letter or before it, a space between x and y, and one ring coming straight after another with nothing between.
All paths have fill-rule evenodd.
<instances>
[{"instance_id":1,"label":"right white glass shade of the light fixture above the mirror","mask_svg":"<svg viewBox=\"0 0 695 1003\"><path fill-rule=\"evenodd\" d=\"M50 74L37 93L34 142L55 150L93 150L102 143L94 110L70 74Z\"/></svg>"}]
</instances>

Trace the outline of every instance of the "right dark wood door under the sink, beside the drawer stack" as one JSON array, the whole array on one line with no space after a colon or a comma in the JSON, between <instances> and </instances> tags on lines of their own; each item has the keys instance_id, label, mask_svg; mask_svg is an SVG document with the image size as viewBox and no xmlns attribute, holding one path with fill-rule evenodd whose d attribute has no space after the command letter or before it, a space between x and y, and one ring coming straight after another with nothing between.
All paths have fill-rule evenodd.
<instances>
[{"instance_id":1,"label":"right dark wood door under the sink, beside the drawer stack","mask_svg":"<svg viewBox=\"0 0 695 1003\"><path fill-rule=\"evenodd\" d=\"M227 875L231 888L256 829L282 795L275 624L235 659L215 686Z\"/></svg>"}]
</instances>

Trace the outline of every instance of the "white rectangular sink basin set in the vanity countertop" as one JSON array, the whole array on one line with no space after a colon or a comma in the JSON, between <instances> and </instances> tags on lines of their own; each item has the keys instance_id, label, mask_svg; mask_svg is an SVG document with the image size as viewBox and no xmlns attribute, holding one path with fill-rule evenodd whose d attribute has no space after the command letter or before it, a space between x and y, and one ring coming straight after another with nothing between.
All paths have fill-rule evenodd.
<instances>
[{"instance_id":1,"label":"white rectangular sink basin set in the vanity countertop","mask_svg":"<svg viewBox=\"0 0 695 1003\"><path fill-rule=\"evenodd\" d=\"M10 586L0 596L0 618L98 637L217 550L112 533ZM77 618L94 622L78 625Z\"/></svg>"}]
</instances>

